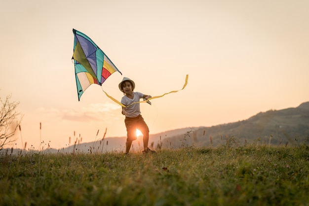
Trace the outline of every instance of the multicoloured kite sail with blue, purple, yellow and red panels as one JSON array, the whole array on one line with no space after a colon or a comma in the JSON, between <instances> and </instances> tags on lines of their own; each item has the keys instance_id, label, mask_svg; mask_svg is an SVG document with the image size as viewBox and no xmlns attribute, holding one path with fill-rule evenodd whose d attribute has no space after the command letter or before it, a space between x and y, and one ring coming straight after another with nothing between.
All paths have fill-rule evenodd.
<instances>
[{"instance_id":1,"label":"multicoloured kite sail with blue, purple, yellow and red panels","mask_svg":"<svg viewBox=\"0 0 309 206\"><path fill-rule=\"evenodd\" d=\"M91 85L102 85L116 68L106 54L85 34L73 29L75 77L78 101L83 92Z\"/></svg>"}]
</instances>

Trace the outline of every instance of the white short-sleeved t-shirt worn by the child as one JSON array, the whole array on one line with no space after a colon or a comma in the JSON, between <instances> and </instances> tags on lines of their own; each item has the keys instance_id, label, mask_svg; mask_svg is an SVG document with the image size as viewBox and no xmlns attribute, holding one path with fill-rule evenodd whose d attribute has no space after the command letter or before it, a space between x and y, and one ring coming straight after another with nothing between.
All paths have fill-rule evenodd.
<instances>
[{"instance_id":1,"label":"white short-sleeved t-shirt worn by the child","mask_svg":"<svg viewBox=\"0 0 309 206\"><path fill-rule=\"evenodd\" d=\"M130 105L125 108L126 111L126 117L137 117L138 115L141 114L141 109L140 109L140 103L135 103L135 102L139 102L141 98L143 98L144 94L140 93L140 92L133 92L133 99L128 98L126 95L124 95L121 98L121 103L124 105Z\"/></svg>"}]
</instances>

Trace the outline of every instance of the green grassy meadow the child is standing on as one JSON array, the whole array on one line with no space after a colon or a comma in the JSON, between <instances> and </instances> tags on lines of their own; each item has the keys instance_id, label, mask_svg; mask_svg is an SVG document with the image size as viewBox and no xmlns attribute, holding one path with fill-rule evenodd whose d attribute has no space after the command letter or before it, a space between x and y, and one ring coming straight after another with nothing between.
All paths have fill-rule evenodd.
<instances>
[{"instance_id":1,"label":"green grassy meadow the child is standing on","mask_svg":"<svg viewBox=\"0 0 309 206\"><path fill-rule=\"evenodd\" d=\"M309 205L309 147L0 156L0 205Z\"/></svg>"}]
</instances>

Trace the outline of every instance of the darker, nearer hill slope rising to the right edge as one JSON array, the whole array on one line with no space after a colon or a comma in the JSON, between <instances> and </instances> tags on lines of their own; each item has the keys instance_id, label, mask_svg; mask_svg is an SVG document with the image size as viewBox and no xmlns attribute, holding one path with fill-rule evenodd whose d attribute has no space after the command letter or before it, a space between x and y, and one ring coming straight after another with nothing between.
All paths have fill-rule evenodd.
<instances>
[{"instance_id":1,"label":"darker, nearer hill slope rising to the right edge","mask_svg":"<svg viewBox=\"0 0 309 206\"><path fill-rule=\"evenodd\" d=\"M169 142L169 143L168 143ZM309 102L296 108L260 112L247 120L197 128L186 137L165 139L163 147L267 143L273 145L309 143Z\"/></svg>"}]
</instances>

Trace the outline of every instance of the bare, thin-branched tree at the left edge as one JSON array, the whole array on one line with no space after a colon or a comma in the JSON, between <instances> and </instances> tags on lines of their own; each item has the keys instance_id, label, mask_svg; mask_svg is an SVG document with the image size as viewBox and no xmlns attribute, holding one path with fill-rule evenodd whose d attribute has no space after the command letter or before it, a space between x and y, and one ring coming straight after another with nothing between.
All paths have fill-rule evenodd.
<instances>
[{"instance_id":1,"label":"bare, thin-branched tree at the left edge","mask_svg":"<svg viewBox=\"0 0 309 206\"><path fill-rule=\"evenodd\" d=\"M11 102L10 99L11 95L6 96L4 101L0 98L0 150L15 140L11 137L14 136L22 119L22 117L18 119L20 114L16 111L19 103Z\"/></svg>"}]
</instances>

